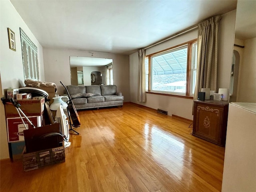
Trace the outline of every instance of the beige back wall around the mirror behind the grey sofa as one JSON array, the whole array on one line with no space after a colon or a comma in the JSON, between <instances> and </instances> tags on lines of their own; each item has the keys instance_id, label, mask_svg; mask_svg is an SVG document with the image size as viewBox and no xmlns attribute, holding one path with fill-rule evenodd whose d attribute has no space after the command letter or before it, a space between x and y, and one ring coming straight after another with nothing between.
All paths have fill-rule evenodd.
<instances>
[{"instance_id":1,"label":"beige back wall around the mirror behind the grey sofa","mask_svg":"<svg viewBox=\"0 0 256 192\"><path fill-rule=\"evenodd\" d=\"M130 101L129 94L129 56L88 51L43 48L45 80L54 82L58 86L58 94L63 94L63 86L70 85L70 56L107 58L113 60L114 84L117 91L122 92L124 101Z\"/></svg>"}]
</instances>

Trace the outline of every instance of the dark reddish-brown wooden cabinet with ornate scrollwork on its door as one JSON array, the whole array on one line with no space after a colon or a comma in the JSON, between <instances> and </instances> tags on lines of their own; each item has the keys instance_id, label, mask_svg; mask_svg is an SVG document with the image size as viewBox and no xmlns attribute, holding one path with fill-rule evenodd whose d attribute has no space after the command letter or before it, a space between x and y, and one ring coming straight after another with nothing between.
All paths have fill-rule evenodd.
<instances>
[{"instance_id":1,"label":"dark reddish-brown wooden cabinet with ornate scrollwork on its door","mask_svg":"<svg viewBox=\"0 0 256 192\"><path fill-rule=\"evenodd\" d=\"M227 121L227 101L194 101L194 136L225 146Z\"/></svg>"}]
</instances>

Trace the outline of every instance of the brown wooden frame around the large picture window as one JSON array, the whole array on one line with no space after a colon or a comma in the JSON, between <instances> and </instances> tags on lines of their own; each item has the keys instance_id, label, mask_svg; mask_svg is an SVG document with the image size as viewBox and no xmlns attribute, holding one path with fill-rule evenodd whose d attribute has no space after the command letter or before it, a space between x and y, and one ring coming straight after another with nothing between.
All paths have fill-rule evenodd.
<instances>
[{"instance_id":1,"label":"brown wooden frame around the large picture window","mask_svg":"<svg viewBox=\"0 0 256 192\"><path fill-rule=\"evenodd\" d=\"M164 50L161 50L161 51L158 51L158 52L155 52L155 53L152 53L152 54L148 54L145 56L145 58L148 58L148 90L146 91L147 93L150 93L150 94L160 94L160 95L167 95L167 96L176 96L176 97L182 97L182 98L190 98L190 99L193 99L193 96L194 94L192 94L192 84L191 84L191 72L192 72L192 45L194 43L197 43L197 39L193 39L193 40L190 40L188 42L184 42L182 44L178 44L176 46L173 46L173 47L170 47L170 48L167 48L167 49L164 49ZM175 50L177 49L178 47L182 47L182 46L188 46L188 52L187 52L187 69L186 69L186 93L185 94L179 94L179 93L173 93L173 92L166 92L166 91L152 91L151 90L151 79L152 79L152 72L151 72L151 58L152 56L157 56L157 55L160 55L160 54L164 54L166 52L170 52L172 50ZM145 72L146 73L146 72Z\"/></svg>"}]
</instances>

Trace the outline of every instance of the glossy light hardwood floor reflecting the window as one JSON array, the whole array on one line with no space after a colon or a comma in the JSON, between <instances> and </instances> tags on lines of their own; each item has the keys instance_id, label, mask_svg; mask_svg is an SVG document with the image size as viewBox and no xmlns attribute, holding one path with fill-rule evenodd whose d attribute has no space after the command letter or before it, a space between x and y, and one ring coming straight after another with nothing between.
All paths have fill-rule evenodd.
<instances>
[{"instance_id":1,"label":"glossy light hardwood floor reflecting the window","mask_svg":"<svg viewBox=\"0 0 256 192\"><path fill-rule=\"evenodd\" d=\"M66 162L23 171L1 160L1 192L218 192L224 148L191 135L191 122L132 103L78 111Z\"/></svg>"}]
</instances>

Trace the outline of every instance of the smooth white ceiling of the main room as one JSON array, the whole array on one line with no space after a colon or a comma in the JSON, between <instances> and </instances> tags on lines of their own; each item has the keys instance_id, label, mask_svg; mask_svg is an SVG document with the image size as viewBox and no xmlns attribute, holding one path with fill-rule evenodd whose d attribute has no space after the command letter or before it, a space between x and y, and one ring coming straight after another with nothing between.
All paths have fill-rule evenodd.
<instances>
[{"instance_id":1,"label":"smooth white ceiling of the main room","mask_svg":"<svg viewBox=\"0 0 256 192\"><path fill-rule=\"evenodd\" d=\"M132 54L236 0L11 0L43 47Z\"/></svg>"}]
</instances>

